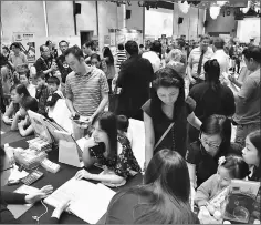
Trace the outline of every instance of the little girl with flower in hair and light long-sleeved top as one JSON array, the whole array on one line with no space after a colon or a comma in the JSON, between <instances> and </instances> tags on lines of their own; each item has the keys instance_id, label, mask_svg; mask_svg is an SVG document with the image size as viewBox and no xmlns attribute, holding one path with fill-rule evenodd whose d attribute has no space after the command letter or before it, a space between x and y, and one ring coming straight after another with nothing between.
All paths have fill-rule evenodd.
<instances>
[{"instance_id":1,"label":"little girl with flower in hair and light long-sleeved top","mask_svg":"<svg viewBox=\"0 0 261 225\"><path fill-rule=\"evenodd\" d=\"M198 187L195 203L200 207L200 211L206 209L208 201L229 186L231 180L243 180L248 174L249 166L241 156L230 155L220 157L217 174L210 176Z\"/></svg>"}]
</instances>

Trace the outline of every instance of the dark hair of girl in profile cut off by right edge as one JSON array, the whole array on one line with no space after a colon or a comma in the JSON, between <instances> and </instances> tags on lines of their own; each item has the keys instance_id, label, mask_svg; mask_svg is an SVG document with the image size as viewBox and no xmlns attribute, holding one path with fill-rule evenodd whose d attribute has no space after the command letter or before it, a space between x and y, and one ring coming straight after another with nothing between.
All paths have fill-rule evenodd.
<instances>
[{"instance_id":1,"label":"dark hair of girl in profile cut off by right edge","mask_svg":"<svg viewBox=\"0 0 261 225\"><path fill-rule=\"evenodd\" d=\"M259 166L254 170L252 180L260 181L261 180L261 131L257 130L251 132L249 135L249 141L253 144L253 146L258 150L258 156L260 160Z\"/></svg>"}]
</instances>

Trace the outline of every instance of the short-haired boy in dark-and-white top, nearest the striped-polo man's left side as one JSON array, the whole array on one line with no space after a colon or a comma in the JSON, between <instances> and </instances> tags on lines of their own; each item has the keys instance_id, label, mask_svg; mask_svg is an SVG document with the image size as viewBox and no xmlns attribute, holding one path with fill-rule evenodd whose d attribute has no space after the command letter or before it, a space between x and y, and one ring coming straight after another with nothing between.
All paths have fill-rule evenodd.
<instances>
[{"instance_id":1,"label":"short-haired boy in dark-and-white top, nearest the striped-polo man's left side","mask_svg":"<svg viewBox=\"0 0 261 225\"><path fill-rule=\"evenodd\" d=\"M60 80L56 76L48 79L50 95L48 98L46 106L54 106L59 99L63 99L63 93L59 90ZM49 111L49 109L48 109Z\"/></svg>"}]
</instances>

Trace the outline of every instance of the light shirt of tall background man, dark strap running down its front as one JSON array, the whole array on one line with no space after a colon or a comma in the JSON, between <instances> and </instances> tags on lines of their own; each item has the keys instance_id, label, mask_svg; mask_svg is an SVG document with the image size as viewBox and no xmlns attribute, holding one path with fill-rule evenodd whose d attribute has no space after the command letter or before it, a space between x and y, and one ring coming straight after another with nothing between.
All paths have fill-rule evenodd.
<instances>
[{"instance_id":1,"label":"light shirt of tall background man, dark strap running down its front","mask_svg":"<svg viewBox=\"0 0 261 225\"><path fill-rule=\"evenodd\" d=\"M190 52L189 58L188 58L188 65L192 69L192 71L191 71L192 76L200 78L200 79L205 80L203 64L205 64L205 62L207 62L208 60L211 59L212 54L213 54L212 49L210 47L208 47L208 50L203 53L201 73L198 75L197 71L198 71L199 59L201 55L201 49L200 49L200 47L192 49L192 51Z\"/></svg>"}]
</instances>

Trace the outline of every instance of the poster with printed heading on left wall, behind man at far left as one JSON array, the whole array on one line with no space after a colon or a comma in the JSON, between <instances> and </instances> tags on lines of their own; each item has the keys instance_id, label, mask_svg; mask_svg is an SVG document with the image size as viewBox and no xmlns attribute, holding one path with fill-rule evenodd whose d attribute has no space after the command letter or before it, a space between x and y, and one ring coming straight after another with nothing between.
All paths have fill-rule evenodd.
<instances>
[{"instance_id":1,"label":"poster with printed heading on left wall, behind man at far left","mask_svg":"<svg viewBox=\"0 0 261 225\"><path fill-rule=\"evenodd\" d=\"M29 63L33 63L36 60L34 33L13 32L13 42L21 43L21 51L27 55Z\"/></svg>"}]
</instances>

